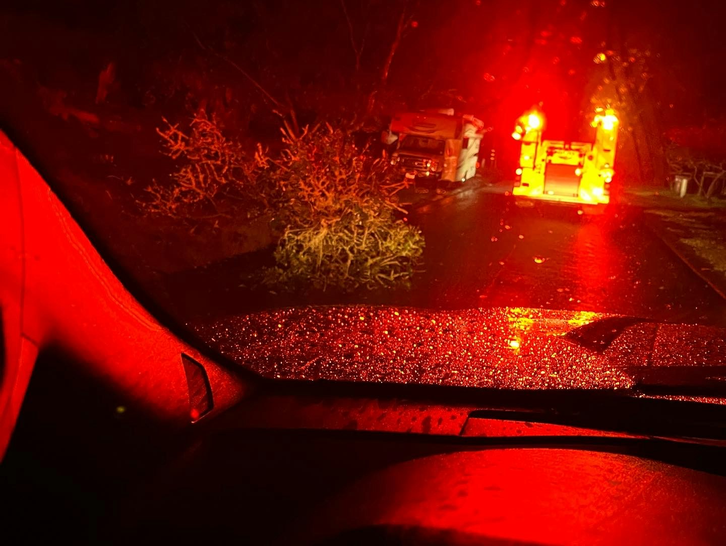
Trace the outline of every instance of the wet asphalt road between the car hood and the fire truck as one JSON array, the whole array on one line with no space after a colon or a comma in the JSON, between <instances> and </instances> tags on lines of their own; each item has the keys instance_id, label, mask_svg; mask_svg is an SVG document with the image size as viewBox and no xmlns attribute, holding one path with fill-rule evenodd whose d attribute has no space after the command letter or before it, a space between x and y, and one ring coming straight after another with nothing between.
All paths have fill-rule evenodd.
<instances>
[{"instance_id":1,"label":"wet asphalt road between the car hood and the fire truck","mask_svg":"<svg viewBox=\"0 0 726 546\"><path fill-rule=\"evenodd\" d=\"M426 250L425 271L410 290L251 290L240 276L250 258L242 256L167 277L159 303L179 322L309 303L387 303L600 311L726 326L726 302L650 232L639 210L613 207L589 216L561 205L520 208L506 189L472 187L411 211Z\"/></svg>"}]
</instances>

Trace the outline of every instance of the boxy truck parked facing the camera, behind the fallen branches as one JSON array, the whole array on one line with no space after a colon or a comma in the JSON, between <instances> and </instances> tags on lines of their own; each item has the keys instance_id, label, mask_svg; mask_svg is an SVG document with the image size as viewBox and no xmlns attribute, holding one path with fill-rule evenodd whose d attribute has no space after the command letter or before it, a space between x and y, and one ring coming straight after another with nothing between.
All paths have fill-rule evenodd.
<instances>
[{"instance_id":1,"label":"boxy truck parked facing the camera, behind the fallen branches","mask_svg":"<svg viewBox=\"0 0 726 546\"><path fill-rule=\"evenodd\" d=\"M476 174L484 123L473 115L449 110L397 113L383 142L393 144L391 165L407 177L428 177L441 185L466 182ZM432 181L432 182L433 182Z\"/></svg>"}]
</instances>

